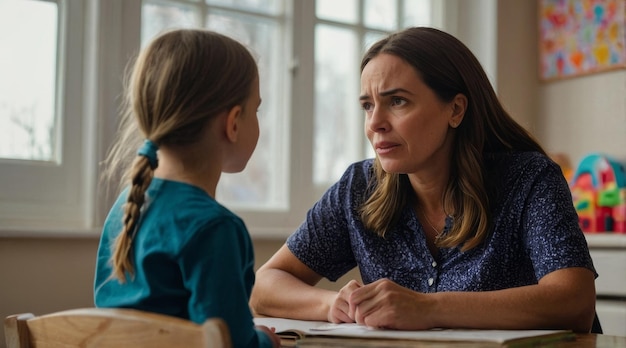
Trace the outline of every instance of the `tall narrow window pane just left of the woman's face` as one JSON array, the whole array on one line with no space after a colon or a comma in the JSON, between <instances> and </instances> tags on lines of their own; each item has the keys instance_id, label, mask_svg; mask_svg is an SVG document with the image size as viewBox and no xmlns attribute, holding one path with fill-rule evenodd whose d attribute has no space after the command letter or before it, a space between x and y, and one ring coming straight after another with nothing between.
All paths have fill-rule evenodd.
<instances>
[{"instance_id":1,"label":"tall narrow window pane just left of the woman's face","mask_svg":"<svg viewBox=\"0 0 626 348\"><path fill-rule=\"evenodd\" d=\"M359 51L359 39L353 30L316 26L315 184L335 181L348 164L362 157Z\"/></svg>"}]
</instances>

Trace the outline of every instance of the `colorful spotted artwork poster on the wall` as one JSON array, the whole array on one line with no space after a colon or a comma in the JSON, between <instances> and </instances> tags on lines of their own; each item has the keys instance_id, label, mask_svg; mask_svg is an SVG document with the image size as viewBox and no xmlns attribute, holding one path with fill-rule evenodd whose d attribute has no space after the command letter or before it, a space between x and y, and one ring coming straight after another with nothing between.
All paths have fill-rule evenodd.
<instances>
[{"instance_id":1,"label":"colorful spotted artwork poster on the wall","mask_svg":"<svg viewBox=\"0 0 626 348\"><path fill-rule=\"evenodd\" d=\"M544 80L626 66L626 0L539 0Z\"/></svg>"}]
</instances>

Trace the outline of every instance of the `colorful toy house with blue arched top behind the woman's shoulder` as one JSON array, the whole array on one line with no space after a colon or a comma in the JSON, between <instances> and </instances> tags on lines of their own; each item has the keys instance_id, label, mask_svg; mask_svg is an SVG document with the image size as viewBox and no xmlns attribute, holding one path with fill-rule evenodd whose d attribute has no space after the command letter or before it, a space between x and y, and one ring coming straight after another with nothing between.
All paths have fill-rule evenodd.
<instances>
[{"instance_id":1,"label":"colorful toy house with blue arched top behind the woman's shoulder","mask_svg":"<svg viewBox=\"0 0 626 348\"><path fill-rule=\"evenodd\" d=\"M583 158L570 189L583 232L626 233L626 170L602 154Z\"/></svg>"}]
</instances>

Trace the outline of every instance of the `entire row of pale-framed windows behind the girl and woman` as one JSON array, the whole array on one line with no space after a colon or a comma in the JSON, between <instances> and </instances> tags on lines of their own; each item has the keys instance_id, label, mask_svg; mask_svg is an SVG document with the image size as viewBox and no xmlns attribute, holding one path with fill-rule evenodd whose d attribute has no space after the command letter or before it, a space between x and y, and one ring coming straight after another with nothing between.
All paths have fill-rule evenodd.
<instances>
[{"instance_id":1,"label":"entire row of pale-framed windows behind the girl and woman","mask_svg":"<svg viewBox=\"0 0 626 348\"><path fill-rule=\"evenodd\" d=\"M22 76L0 81L2 229L98 230L114 198L98 195L98 163L116 131L127 62L163 29L203 27L251 48L263 98L257 150L243 173L222 176L217 198L253 234L286 236L347 165L371 156L358 103L362 53L388 32L431 24L431 1L0 1L10 33L0 42L16 45L0 71Z\"/></svg>"}]
</instances>

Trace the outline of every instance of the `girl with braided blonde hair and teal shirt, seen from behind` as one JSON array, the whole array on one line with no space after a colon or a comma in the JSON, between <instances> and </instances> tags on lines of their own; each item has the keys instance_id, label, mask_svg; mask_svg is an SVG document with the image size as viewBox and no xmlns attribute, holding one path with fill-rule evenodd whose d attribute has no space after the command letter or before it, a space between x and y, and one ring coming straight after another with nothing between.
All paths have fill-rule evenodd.
<instances>
[{"instance_id":1,"label":"girl with braided blonde hair and teal shirt, seen from behind","mask_svg":"<svg viewBox=\"0 0 626 348\"><path fill-rule=\"evenodd\" d=\"M278 347L271 330L255 329L248 306L255 276L246 226L215 201L220 174L242 171L259 137L254 58L214 32L167 32L140 53L127 92L105 175L144 143L104 223L96 306L196 323L220 317L235 347Z\"/></svg>"}]
</instances>

